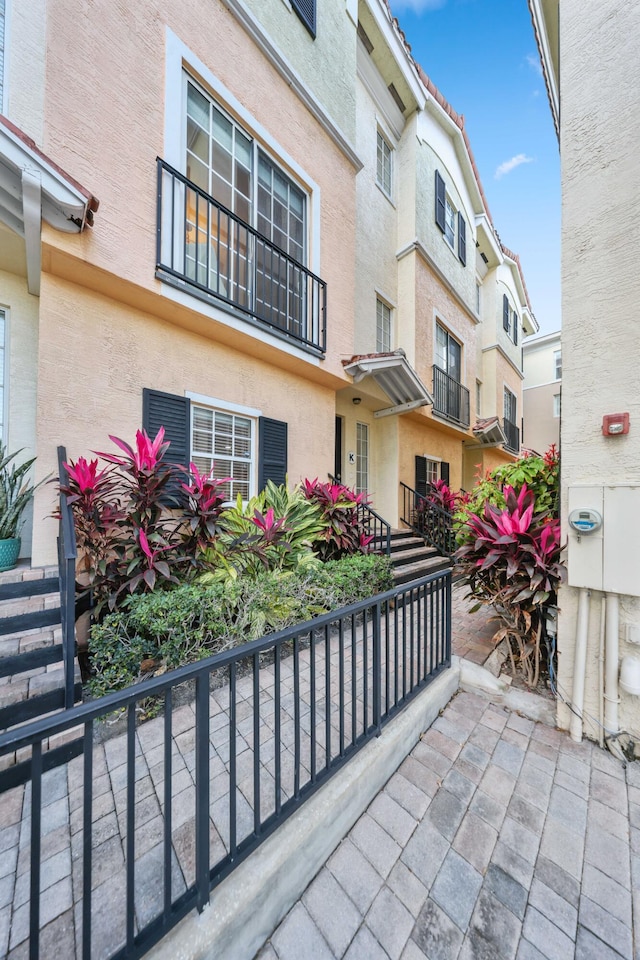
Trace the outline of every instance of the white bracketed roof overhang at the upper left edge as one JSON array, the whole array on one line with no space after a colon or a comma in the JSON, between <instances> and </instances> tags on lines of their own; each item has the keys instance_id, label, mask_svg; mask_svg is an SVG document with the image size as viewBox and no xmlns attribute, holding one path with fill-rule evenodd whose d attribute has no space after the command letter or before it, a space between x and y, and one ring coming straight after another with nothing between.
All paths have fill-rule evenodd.
<instances>
[{"instance_id":1,"label":"white bracketed roof overhang at the upper left edge","mask_svg":"<svg viewBox=\"0 0 640 960\"><path fill-rule=\"evenodd\" d=\"M80 233L97 209L92 194L0 116L0 221L24 239L29 293L40 293L42 221Z\"/></svg>"}]
</instances>

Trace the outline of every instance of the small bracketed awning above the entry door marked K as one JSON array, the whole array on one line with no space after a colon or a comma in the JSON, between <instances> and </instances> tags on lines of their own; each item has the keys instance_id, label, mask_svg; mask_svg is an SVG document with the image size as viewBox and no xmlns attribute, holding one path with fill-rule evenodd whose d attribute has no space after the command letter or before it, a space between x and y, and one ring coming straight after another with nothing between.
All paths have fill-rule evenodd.
<instances>
[{"instance_id":1,"label":"small bracketed awning above the entry door marked K","mask_svg":"<svg viewBox=\"0 0 640 960\"><path fill-rule=\"evenodd\" d=\"M407 413L433 403L433 397L407 361L404 350L368 353L342 362L354 383L360 383L365 377L372 377L391 400L393 406L376 410L374 417Z\"/></svg>"}]
</instances>

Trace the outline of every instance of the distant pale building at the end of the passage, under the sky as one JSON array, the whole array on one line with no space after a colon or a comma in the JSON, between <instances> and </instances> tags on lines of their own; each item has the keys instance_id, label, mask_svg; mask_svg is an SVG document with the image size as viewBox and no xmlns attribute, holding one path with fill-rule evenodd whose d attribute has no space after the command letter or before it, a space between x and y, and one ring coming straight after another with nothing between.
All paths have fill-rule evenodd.
<instances>
[{"instance_id":1,"label":"distant pale building at the end of the passage, under the sky","mask_svg":"<svg viewBox=\"0 0 640 960\"><path fill-rule=\"evenodd\" d=\"M562 349L560 331L532 337L523 346L522 400L526 435L524 445L544 453L560 446L562 404Z\"/></svg>"}]
</instances>

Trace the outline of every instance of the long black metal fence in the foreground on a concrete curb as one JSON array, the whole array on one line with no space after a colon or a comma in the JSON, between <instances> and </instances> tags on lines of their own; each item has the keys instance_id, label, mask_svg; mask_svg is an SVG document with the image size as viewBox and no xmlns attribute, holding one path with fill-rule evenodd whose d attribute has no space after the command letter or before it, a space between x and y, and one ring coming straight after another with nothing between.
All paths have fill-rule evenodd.
<instances>
[{"instance_id":1,"label":"long black metal fence in the foreground on a concrete curb","mask_svg":"<svg viewBox=\"0 0 640 960\"><path fill-rule=\"evenodd\" d=\"M142 956L449 666L450 639L446 571L0 736L29 768L0 799L22 805L28 874L12 944ZM43 741L72 729L81 755L47 769ZM52 906L45 858L67 848L72 902Z\"/></svg>"}]
</instances>

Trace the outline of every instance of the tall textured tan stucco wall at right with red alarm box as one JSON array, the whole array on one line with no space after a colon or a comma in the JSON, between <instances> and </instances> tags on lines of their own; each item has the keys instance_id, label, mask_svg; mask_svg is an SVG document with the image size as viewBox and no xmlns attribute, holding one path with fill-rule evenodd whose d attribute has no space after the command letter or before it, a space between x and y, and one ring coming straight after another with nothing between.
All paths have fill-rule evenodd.
<instances>
[{"instance_id":1,"label":"tall textured tan stucco wall at right with red alarm box","mask_svg":"<svg viewBox=\"0 0 640 960\"><path fill-rule=\"evenodd\" d=\"M635 317L640 222L634 97L640 6L622 0L560 5L562 95L562 510L573 484L629 483L640 490L640 353ZM586 106L588 105L588 107ZM628 436L605 438L606 413L628 411ZM640 509L640 493L638 493ZM606 518L603 525L606 537ZM567 536L566 520L564 536ZM636 562L629 543L627 564ZM640 574L639 574L640 576ZM571 698L577 590L560 591L559 684ZM622 597L621 622L640 623L640 600ZM592 591L585 711L598 716L600 594ZM638 654L621 640L620 654ZM558 708L569 723L569 709ZM620 722L640 734L640 700L621 693ZM587 731L595 735L590 723Z\"/></svg>"}]
</instances>

